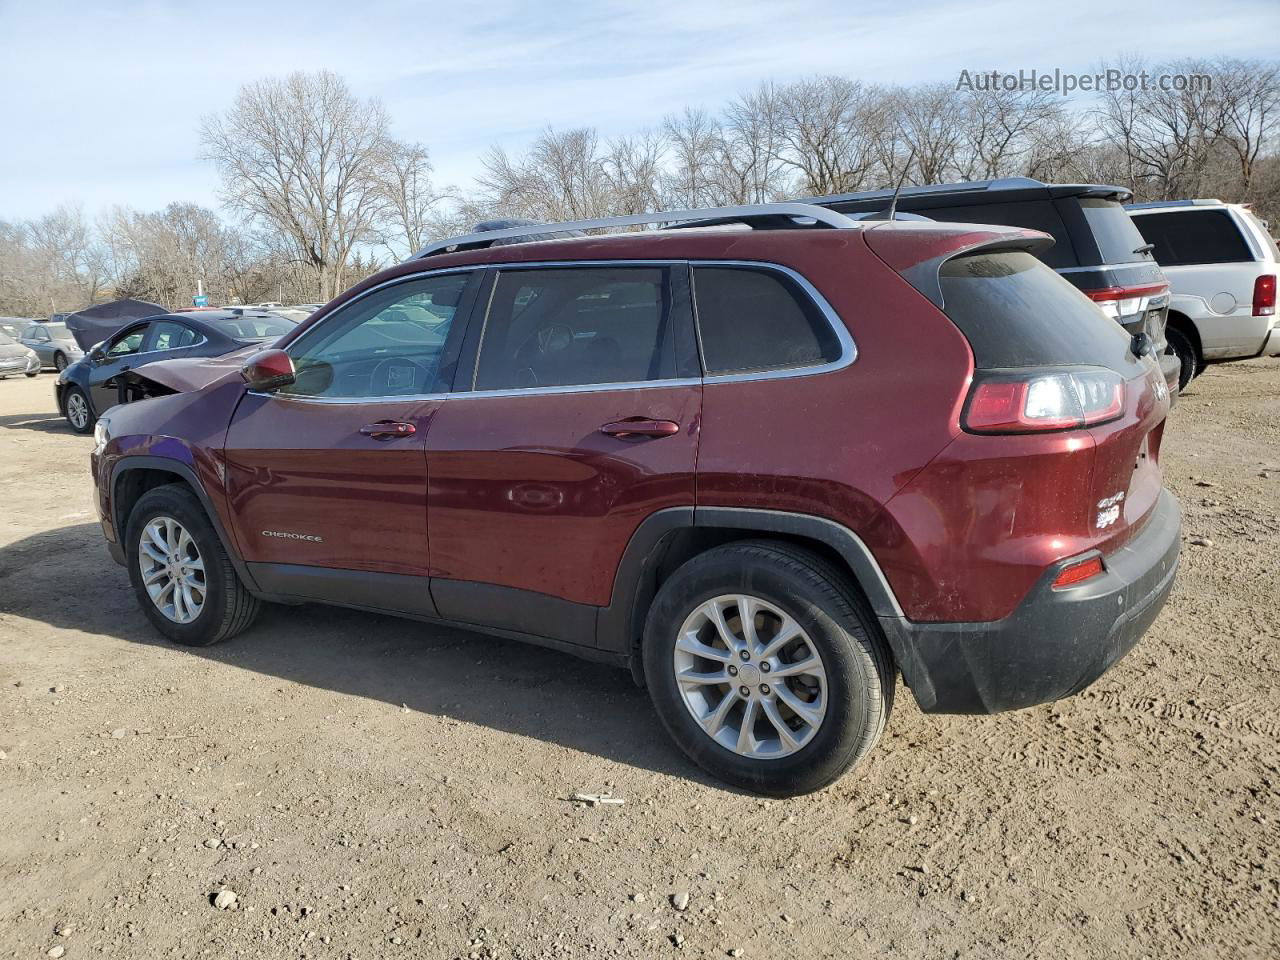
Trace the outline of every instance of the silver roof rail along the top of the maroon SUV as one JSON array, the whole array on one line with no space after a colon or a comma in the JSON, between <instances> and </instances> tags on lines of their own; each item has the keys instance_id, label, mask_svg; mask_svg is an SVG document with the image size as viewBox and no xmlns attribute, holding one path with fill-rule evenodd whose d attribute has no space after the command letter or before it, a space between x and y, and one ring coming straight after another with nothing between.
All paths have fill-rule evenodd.
<instances>
[{"instance_id":1,"label":"silver roof rail along the top of the maroon SUV","mask_svg":"<svg viewBox=\"0 0 1280 960\"><path fill-rule=\"evenodd\" d=\"M463 250L483 250L494 241L515 239L534 234L562 233L567 230L596 230L609 227L639 227L643 224L682 223L687 220L717 220L719 223L742 223L760 228L795 228L797 219L813 220L820 227L835 229L854 229L858 223L835 210L813 204L748 204L744 206L718 206L704 210L663 210L655 214L631 214L628 216L604 216L595 220L567 220L564 223L539 223L522 227L508 227L502 230L467 233L461 237L436 241L422 247L410 260L421 260L435 253L452 253Z\"/></svg>"}]
</instances>

